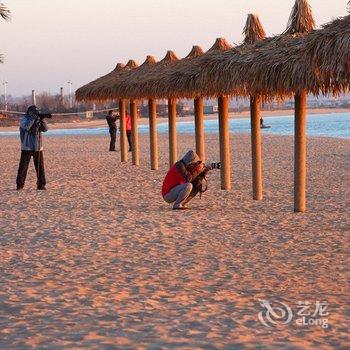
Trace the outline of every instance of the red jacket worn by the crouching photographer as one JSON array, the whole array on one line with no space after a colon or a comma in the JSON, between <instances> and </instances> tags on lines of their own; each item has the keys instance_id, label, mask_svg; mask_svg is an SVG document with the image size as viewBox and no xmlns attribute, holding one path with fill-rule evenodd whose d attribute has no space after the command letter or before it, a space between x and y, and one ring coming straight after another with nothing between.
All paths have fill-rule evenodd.
<instances>
[{"instance_id":1,"label":"red jacket worn by the crouching photographer","mask_svg":"<svg viewBox=\"0 0 350 350\"><path fill-rule=\"evenodd\" d=\"M187 182L191 182L200 173L198 165L193 171L189 172L183 161L176 162L168 171L163 181L162 196L164 197L173 187Z\"/></svg>"}]
</instances>

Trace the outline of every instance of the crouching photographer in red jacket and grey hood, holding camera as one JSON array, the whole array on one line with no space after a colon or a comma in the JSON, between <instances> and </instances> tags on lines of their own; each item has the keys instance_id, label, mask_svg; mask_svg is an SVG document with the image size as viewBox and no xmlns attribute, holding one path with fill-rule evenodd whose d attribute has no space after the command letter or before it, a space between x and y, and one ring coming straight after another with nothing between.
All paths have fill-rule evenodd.
<instances>
[{"instance_id":1,"label":"crouching photographer in red jacket and grey hood, holding camera","mask_svg":"<svg viewBox=\"0 0 350 350\"><path fill-rule=\"evenodd\" d=\"M206 191L205 175L215 168L219 169L220 163L206 165L194 151L188 151L166 174L162 186L163 199L174 203L174 210L188 209L187 203L198 193Z\"/></svg>"}]
</instances>

